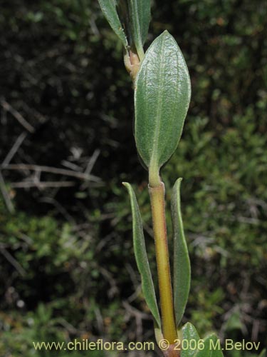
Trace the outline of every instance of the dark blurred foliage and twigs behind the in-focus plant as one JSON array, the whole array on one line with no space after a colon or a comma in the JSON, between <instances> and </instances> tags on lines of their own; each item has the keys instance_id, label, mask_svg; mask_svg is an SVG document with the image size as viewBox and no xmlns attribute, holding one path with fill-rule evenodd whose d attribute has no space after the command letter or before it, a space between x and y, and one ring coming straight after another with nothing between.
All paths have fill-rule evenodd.
<instances>
[{"instance_id":1,"label":"dark blurred foliage and twigs behind the in-focus plant","mask_svg":"<svg viewBox=\"0 0 267 357\"><path fill-rule=\"evenodd\" d=\"M32 341L154 341L121 185L135 183L155 272L147 173L132 136L132 84L122 48L97 1L0 4L0 355L88 354L37 352ZM184 178L192 261L184 322L202 335L215 330L222 339L260 341L261 349L267 327L264 26L263 0L157 0L148 41L168 29L192 78L184 134L162 170L169 232L169 194L175 179Z\"/></svg>"}]
</instances>

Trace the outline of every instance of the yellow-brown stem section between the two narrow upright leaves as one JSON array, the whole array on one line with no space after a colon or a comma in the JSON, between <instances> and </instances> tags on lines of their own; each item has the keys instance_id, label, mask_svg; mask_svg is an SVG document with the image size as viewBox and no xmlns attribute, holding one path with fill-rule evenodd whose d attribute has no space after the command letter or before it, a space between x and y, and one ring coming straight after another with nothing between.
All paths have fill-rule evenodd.
<instances>
[{"instance_id":1,"label":"yellow-brown stem section between the two narrow upright leaves","mask_svg":"<svg viewBox=\"0 0 267 357\"><path fill-rule=\"evenodd\" d=\"M163 337L174 343L177 339L177 331L174 321L174 308L172 298L172 283L169 269L169 251L167 244L167 229L165 219L164 183L151 187L150 201L152 207L153 231L157 258L157 274L159 278L159 296L162 313Z\"/></svg>"}]
</instances>

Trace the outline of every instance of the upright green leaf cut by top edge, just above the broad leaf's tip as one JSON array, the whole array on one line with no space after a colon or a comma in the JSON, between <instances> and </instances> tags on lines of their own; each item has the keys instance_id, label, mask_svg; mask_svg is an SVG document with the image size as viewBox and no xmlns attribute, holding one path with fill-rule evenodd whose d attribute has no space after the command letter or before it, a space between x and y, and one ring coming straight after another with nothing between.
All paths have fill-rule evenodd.
<instances>
[{"instance_id":1,"label":"upright green leaf cut by top edge, just above the broad leaf's tip","mask_svg":"<svg viewBox=\"0 0 267 357\"><path fill-rule=\"evenodd\" d=\"M150 0L128 0L132 39L140 59L144 56L142 45L150 26L150 6Z\"/></svg>"}]
</instances>

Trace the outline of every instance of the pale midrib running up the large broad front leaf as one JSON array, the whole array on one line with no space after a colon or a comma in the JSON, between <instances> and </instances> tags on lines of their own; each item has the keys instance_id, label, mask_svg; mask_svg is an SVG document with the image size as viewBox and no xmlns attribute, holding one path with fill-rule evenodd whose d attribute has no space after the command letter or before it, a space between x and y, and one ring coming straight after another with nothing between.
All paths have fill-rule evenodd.
<instances>
[{"instance_id":1,"label":"pale midrib running up the large broad front leaf","mask_svg":"<svg viewBox=\"0 0 267 357\"><path fill-rule=\"evenodd\" d=\"M162 86L162 83L163 83L163 76L162 76L162 47L163 47L163 42L162 41L162 44L160 46L160 56L159 56L159 86L158 86L158 89L161 88ZM159 120L160 119L160 113L162 111L162 96L161 96L161 91L158 91L158 94L157 94L157 109L156 109L156 115L155 115L155 118L156 118L156 126L155 126L155 134L154 134L154 137L153 137L153 149L152 149L152 157L151 157L151 160L150 160L150 166L152 167L152 170L159 170L159 156L157 154L156 156L156 151L158 149L158 146L159 146L159 129L160 129L160 124L161 124L161 121Z\"/></svg>"}]
</instances>

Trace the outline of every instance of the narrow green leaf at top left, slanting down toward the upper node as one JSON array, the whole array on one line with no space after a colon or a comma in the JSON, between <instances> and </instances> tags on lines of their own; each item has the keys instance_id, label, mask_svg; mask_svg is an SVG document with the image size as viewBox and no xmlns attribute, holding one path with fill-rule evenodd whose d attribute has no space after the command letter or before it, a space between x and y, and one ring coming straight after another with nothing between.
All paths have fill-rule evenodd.
<instances>
[{"instance_id":1,"label":"narrow green leaf at top left, slanting down toward the upper node","mask_svg":"<svg viewBox=\"0 0 267 357\"><path fill-rule=\"evenodd\" d=\"M105 18L108 20L112 30L117 34L117 36L122 41L123 46L127 49L127 38L125 31L122 28L120 18L117 14L116 1L115 0L98 0L100 8L105 15Z\"/></svg>"}]
</instances>

